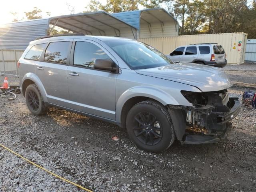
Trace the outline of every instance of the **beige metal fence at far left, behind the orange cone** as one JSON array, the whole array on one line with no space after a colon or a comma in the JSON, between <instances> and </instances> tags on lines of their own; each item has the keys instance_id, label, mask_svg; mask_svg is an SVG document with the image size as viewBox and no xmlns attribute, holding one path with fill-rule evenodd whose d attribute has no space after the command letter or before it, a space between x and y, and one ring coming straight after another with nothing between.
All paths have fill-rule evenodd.
<instances>
[{"instance_id":1,"label":"beige metal fence at far left, behind the orange cone","mask_svg":"<svg viewBox=\"0 0 256 192\"><path fill-rule=\"evenodd\" d=\"M0 49L0 73L18 76L17 61L24 50Z\"/></svg>"}]
</instances>

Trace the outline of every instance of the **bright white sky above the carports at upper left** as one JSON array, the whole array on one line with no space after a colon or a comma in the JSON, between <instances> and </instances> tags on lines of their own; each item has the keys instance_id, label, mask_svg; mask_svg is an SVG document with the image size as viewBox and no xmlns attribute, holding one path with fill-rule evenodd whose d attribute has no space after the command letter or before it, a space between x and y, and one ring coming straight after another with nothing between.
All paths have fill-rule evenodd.
<instances>
[{"instance_id":1,"label":"bright white sky above the carports at upper left","mask_svg":"<svg viewBox=\"0 0 256 192\"><path fill-rule=\"evenodd\" d=\"M106 0L98 0L106 4ZM83 12L90 0L1 0L0 24L12 22L14 16L10 12L17 12L18 19L25 17L24 12L30 12L37 7L42 10L43 18L49 17L45 12L51 12L51 16L70 14L67 4L74 7L74 13Z\"/></svg>"}]
</instances>

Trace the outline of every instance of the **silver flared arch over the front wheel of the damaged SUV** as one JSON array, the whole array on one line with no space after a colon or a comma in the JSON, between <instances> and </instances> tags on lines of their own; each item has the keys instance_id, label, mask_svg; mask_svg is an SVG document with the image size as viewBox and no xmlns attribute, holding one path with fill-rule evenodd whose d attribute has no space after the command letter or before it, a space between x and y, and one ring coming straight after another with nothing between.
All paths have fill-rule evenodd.
<instances>
[{"instance_id":1,"label":"silver flared arch over the front wheel of the damaged SUV","mask_svg":"<svg viewBox=\"0 0 256 192\"><path fill-rule=\"evenodd\" d=\"M148 97L157 100L164 106L178 105L178 102L168 93L152 86L136 86L126 90L116 102L116 121L121 123L121 112L126 101L133 97Z\"/></svg>"}]
</instances>

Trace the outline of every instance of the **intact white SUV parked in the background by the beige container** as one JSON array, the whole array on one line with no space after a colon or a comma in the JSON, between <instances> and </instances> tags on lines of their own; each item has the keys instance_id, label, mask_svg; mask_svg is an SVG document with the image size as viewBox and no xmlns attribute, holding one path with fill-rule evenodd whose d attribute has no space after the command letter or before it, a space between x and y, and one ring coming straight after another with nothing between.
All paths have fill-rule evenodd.
<instances>
[{"instance_id":1,"label":"intact white SUV parked in the background by the beige container","mask_svg":"<svg viewBox=\"0 0 256 192\"><path fill-rule=\"evenodd\" d=\"M180 46L167 56L175 62L192 62L215 67L224 67L227 64L224 48L217 43Z\"/></svg>"}]
</instances>

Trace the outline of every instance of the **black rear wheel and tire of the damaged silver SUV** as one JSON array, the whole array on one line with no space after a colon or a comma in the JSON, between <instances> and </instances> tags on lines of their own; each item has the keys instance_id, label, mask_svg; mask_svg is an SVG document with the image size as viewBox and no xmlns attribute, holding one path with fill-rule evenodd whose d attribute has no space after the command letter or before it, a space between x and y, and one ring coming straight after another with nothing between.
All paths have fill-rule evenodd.
<instances>
[{"instance_id":1,"label":"black rear wheel and tire of the damaged silver SUV","mask_svg":"<svg viewBox=\"0 0 256 192\"><path fill-rule=\"evenodd\" d=\"M46 114L46 107L36 84L30 84L25 91L26 104L34 115Z\"/></svg>"}]
</instances>

